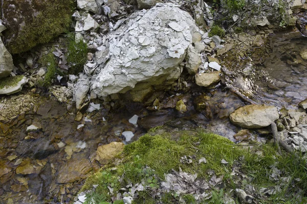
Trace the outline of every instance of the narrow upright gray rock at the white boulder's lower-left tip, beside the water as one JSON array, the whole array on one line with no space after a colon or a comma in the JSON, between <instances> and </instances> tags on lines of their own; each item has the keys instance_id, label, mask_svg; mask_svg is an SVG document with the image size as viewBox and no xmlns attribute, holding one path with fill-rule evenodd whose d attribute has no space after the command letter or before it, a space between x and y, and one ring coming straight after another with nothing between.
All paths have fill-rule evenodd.
<instances>
[{"instance_id":1,"label":"narrow upright gray rock at the white boulder's lower-left tip, beside the water","mask_svg":"<svg viewBox=\"0 0 307 204\"><path fill-rule=\"evenodd\" d=\"M77 81L74 88L74 100L76 101L76 108L80 109L87 91L90 89L90 80L85 74L80 74L80 79Z\"/></svg>"}]
</instances>

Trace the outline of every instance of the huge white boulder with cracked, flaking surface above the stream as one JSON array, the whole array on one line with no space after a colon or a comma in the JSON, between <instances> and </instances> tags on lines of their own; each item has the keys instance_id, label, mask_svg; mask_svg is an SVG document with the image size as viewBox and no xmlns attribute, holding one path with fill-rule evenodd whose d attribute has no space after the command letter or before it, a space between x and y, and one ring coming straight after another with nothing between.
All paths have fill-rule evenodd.
<instances>
[{"instance_id":1,"label":"huge white boulder with cracked, flaking surface above the stream","mask_svg":"<svg viewBox=\"0 0 307 204\"><path fill-rule=\"evenodd\" d=\"M107 96L124 93L140 82L146 83L142 89L173 83L181 74L179 64L195 32L200 30L192 17L173 4L158 3L140 11L110 37L110 59L93 76L93 91Z\"/></svg>"}]
</instances>

